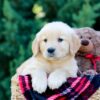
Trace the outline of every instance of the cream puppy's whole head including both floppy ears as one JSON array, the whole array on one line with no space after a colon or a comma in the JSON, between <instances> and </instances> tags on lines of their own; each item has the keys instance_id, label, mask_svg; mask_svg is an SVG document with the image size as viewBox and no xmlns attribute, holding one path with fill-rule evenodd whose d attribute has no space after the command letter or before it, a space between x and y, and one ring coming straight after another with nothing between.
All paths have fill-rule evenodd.
<instances>
[{"instance_id":1,"label":"cream puppy's whole head including both floppy ears","mask_svg":"<svg viewBox=\"0 0 100 100\"><path fill-rule=\"evenodd\" d=\"M41 53L48 60L57 60L74 55L79 47L80 40L69 26L53 22L38 33L33 44L33 53L36 51L36 55Z\"/></svg>"}]
</instances>

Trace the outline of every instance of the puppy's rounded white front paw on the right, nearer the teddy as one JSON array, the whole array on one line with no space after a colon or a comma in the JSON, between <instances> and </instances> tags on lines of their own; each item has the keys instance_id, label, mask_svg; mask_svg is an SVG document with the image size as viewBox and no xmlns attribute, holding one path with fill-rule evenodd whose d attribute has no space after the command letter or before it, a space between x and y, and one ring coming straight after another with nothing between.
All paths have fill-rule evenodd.
<instances>
[{"instance_id":1,"label":"puppy's rounded white front paw on the right, nearer the teddy","mask_svg":"<svg viewBox=\"0 0 100 100\"><path fill-rule=\"evenodd\" d=\"M64 75L51 74L48 78L48 86L50 89L58 89L65 82L66 77Z\"/></svg>"}]
</instances>

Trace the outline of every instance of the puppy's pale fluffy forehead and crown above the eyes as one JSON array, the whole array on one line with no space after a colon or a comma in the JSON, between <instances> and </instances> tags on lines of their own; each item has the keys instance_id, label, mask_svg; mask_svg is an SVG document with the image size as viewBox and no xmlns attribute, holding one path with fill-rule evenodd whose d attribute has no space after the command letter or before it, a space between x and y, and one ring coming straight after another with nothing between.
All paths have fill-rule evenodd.
<instances>
[{"instance_id":1,"label":"puppy's pale fluffy forehead and crown above the eyes","mask_svg":"<svg viewBox=\"0 0 100 100\"><path fill-rule=\"evenodd\" d=\"M60 36L60 35L70 35L74 33L74 30L70 28L67 24L62 22L52 22L46 24L40 31L41 34L45 34L45 36Z\"/></svg>"}]
</instances>

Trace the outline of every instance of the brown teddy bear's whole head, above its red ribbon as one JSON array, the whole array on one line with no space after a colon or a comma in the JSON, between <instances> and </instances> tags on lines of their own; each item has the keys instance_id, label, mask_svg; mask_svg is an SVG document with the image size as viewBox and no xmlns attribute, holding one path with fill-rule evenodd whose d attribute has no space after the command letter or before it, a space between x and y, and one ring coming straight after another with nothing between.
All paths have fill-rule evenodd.
<instances>
[{"instance_id":1,"label":"brown teddy bear's whole head, above its red ribbon","mask_svg":"<svg viewBox=\"0 0 100 100\"><path fill-rule=\"evenodd\" d=\"M100 31L84 27L75 29L76 34L81 39L81 47L78 53L100 55Z\"/></svg>"}]
</instances>

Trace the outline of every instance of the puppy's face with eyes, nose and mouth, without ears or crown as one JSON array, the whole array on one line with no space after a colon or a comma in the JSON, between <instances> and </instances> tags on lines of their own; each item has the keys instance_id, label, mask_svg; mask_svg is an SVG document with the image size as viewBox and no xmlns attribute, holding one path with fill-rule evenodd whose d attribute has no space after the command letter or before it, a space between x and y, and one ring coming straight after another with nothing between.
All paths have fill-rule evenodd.
<instances>
[{"instance_id":1,"label":"puppy's face with eyes, nose and mouth, without ears or crown","mask_svg":"<svg viewBox=\"0 0 100 100\"><path fill-rule=\"evenodd\" d=\"M40 51L46 59L59 59L69 54L69 42L65 34L47 32L42 36Z\"/></svg>"}]
</instances>

